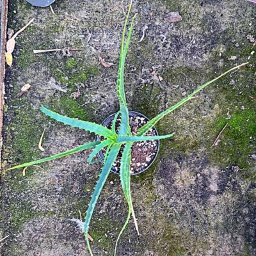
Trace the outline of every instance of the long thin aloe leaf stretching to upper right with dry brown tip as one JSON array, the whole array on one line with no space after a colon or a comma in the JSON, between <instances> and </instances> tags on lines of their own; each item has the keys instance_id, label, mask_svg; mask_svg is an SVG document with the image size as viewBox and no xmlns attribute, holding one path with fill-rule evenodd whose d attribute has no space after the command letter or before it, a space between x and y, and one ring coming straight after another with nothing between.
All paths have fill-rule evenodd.
<instances>
[{"instance_id":1,"label":"long thin aloe leaf stretching to upper right with dry brown tip","mask_svg":"<svg viewBox=\"0 0 256 256\"><path fill-rule=\"evenodd\" d=\"M154 117L152 120L150 120L147 124L143 125L143 127L141 127L140 129L138 129L138 134L137 136L142 136L145 133L147 133L152 127L154 127L154 125L156 125L156 123L161 120L161 118L163 118L164 116L168 115L169 113L171 113L173 110L179 108L180 106L182 106L185 102L187 102L188 100L193 99L193 96L200 92L201 90L203 90L207 85L214 83L215 81L217 81L218 79L220 79L221 77L227 75L228 73L230 73L231 71L237 69L237 68L241 68L244 67L246 64L248 64L248 62L243 63L241 65L238 65L234 68L230 68L230 70L227 70L225 73L221 74L220 76L212 79L211 81L202 84L201 86L199 86L193 93L189 94L186 98L180 100L180 102L178 102L177 104L175 104L174 106L172 106L171 108L166 109L166 111L163 111L161 114L157 115L156 117Z\"/></svg>"}]
</instances>

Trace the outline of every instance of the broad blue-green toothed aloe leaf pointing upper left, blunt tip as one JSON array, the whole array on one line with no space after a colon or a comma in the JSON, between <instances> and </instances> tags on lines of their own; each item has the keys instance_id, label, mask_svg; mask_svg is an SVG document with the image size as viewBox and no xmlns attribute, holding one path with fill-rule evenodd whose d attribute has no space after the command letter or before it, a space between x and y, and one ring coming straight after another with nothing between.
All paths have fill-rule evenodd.
<instances>
[{"instance_id":1,"label":"broad blue-green toothed aloe leaf pointing upper left, blunt tip","mask_svg":"<svg viewBox=\"0 0 256 256\"><path fill-rule=\"evenodd\" d=\"M111 130L109 130L108 128L106 128L102 125L95 124L95 123L92 123L92 122L78 120L78 119L75 119L75 118L70 118L70 117L67 117L67 116L63 116L63 115L60 115L58 113L55 113L54 111L51 111L51 110L45 108L45 106L41 107L41 111L45 115L50 116L52 119L55 119L58 122L61 122L63 124L71 125L72 127L77 127L77 128L80 128L80 129L84 129L84 130L89 131L89 132L95 132L95 134L99 134L100 136L104 136L105 138L111 138L112 137Z\"/></svg>"}]
</instances>

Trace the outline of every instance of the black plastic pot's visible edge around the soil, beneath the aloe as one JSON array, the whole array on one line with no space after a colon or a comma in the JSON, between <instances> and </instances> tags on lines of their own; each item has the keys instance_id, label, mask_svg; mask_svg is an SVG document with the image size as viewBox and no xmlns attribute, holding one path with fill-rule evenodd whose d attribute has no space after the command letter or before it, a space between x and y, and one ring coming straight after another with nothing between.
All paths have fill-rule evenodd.
<instances>
[{"instance_id":1,"label":"black plastic pot's visible edge around the soil, beneath the aloe","mask_svg":"<svg viewBox=\"0 0 256 256\"><path fill-rule=\"evenodd\" d=\"M108 116L108 118L106 118L103 122L102 122L102 125L103 126L107 126L109 123L111 123L114 118L115 118L115 115L116 113L113 113L112 115ZM140 117L143 117L145 118L145 120L149 121L149 119L147 118L147 116L145 115L142 115L141 113L138 113L136 111L130 111L129 110L129 116L140 116ZM156 127L153 127L154 131L156 132L156 135L158 136L158 132L157 132L157 129ZM101 140L101 137L100 136L96 136L95 140ZM154 161L156 160L156 157L157 157L157 154L159 152L159 145L160 145L160 141L159 140L156 140L157 141L157 149L156 149L156 154L154 155L154 157L152 158L152 160L150 161L150 163L148 164L148 166L146 166L145 168L142 168L139 172L136 172L136 173L132 173L132 175L137 175L141 172L145 172L145 170L147 170L153 163ZM102 150L100 150L100 152L98 153L98 158L100 160L100 163L102 163L102 165L104 164L104 154L102 152ZM120 174L118 172L116 172L115 168L111 168L111 172L113 173L116 173L116 174Z\"/></svg>"}]
</instances>

